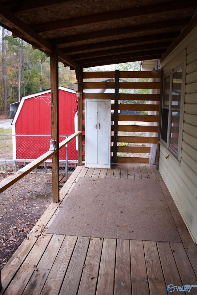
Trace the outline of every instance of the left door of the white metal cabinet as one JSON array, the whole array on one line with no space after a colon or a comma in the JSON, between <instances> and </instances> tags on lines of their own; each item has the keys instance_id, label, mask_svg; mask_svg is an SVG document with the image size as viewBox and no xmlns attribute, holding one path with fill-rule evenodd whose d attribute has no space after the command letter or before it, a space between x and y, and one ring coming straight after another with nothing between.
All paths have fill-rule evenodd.
<instances>
[{"instance_id":1,"label":"left door of the white metal cabinet","mask_svg":"<svg viewBox=\"0 0 197 295\"><path fill-rule=\"evenodd\" d=\"M85 158L86 164L98 163L98 102L86 100Z\"/></svg>"}]
</instances>

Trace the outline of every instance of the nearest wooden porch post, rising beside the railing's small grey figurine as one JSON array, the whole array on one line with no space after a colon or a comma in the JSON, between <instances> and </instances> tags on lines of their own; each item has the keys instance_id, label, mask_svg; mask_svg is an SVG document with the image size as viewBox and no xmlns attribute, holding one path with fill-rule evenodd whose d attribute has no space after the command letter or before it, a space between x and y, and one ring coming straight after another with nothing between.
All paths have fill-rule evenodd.
<instances>
[{"instance_id":1,"label":"nearest wooden porch post, rising beside the railing's small grey figurine","mask_svg":"<svg viewBox=\"0 0 197 295\"><path fill-rule=\"evenodd\" d=\"M56 140L57 153L52 156L53 202L59 202L59 107L58 107L58 49L50 54L51 139Z\"/></svg>"}]
</instances>

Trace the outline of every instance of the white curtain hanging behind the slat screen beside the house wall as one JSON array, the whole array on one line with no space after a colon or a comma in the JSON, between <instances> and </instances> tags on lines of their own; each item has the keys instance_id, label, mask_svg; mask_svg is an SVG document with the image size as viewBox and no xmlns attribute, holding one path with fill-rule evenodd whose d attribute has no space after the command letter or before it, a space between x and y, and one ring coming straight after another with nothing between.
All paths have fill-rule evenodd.
<instances>
[{"instance_id":1,"label":"white curtain hanging behind the slat screen beside the house wall","mask_svg":"<svg viewBox=\"0 0 197 295\"><path fill-rule=\"evenodd\" d=\"M152 82L160 82L160 79L153 79ZM151 89L151 94L159 94L159 93L160 93L160 89ZM159 104L159 101L149 100L149 104ZM148 115L159 116L159 112L148 111ZM148 122L147 125L158 126L159 123ZM158 132L147 132L147 136L158 137ZM147 156L149 156L149 164L155 165L156 164L157 144L146 144L146 145L147 145L147 147L151 147L150 154L147 154Z\"/></svg>"}]
</instances>

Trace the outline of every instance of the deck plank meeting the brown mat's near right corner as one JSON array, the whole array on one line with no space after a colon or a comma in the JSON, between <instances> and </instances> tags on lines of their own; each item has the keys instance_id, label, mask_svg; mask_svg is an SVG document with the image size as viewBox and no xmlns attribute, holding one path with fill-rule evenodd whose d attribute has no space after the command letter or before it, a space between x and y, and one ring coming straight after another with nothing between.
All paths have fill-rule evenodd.
<instances>
[{"instance_id":1,"label":"deck plank meeting the brown mat's near right corner","mask_svg":"<svg viewBox=\"0 0 197 295\"><path fill-rule=\"evenodd\" d=\"M183 285L197 285L197 278L183 244L171 242L170 245ZM196 290L196 288L191 288L190 294L196 294Z\"/></svg>"}]
</instances>

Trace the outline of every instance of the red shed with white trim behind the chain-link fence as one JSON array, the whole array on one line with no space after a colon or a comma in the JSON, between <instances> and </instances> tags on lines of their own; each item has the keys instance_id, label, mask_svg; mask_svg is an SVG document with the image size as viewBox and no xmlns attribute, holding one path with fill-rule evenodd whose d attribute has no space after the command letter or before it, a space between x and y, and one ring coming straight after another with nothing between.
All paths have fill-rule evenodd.
<instances>
[{"instance_id":1,"label":"red shed with white trim behind the chain-link fence","mask_svg":"<svg viewBox=\"0 0 197 295\"><path fill-rule=\"evenodd\" d=\"M59 86L59 141L74 133L76 109L76 92ZM13 137L13 159L36 159L49 150L51 137L46 135L51 135L50 112L50 89L22 97L12 122L12 134L16 135ZM69 160L78 159L75 148L76 140L73 140L68 147ZM60 160L65 159L66 148L62 148Z\"/></svg>"}]
</instances>

